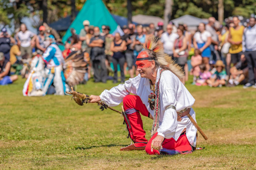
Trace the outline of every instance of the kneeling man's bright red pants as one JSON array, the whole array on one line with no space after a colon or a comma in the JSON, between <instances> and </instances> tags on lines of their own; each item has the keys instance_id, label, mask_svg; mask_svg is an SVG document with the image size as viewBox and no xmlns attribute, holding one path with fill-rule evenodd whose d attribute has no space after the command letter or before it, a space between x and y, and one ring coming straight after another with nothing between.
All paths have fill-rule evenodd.
<instances>
[{"instance_id":1,"label":"kneeling man's bright red pants","mask_svg":"<svg viewBox=\"0 0 256 170\"><path fill-rule=\"evenodd\" d=\"M125 110L127 109L137 110L132 114L127 114L127 118L130 121L131 128L129 128L129 126L127 127L128 127L131 140L134 141L134 146L135 147L146 146L146 152L148 154L160 154L158 150L153 150L153 152L151 152L151 141L157 136L157 133L155 133L155 135L151 137L149 142L147 142L147 139L145 138L146 132L143 130L143 123L142 123L140 113L143 116L148 117L149 111L147 110L146 106L142 103L141 98L137 95L127 95L123 99L123 106ZM125 121L127 124L127 120ZM186 135L181 135L177 141L175 141L173 138L164 139L162 146L163 148L179 150L180 152L192 150Z\"/></svg>"}]
</instances>

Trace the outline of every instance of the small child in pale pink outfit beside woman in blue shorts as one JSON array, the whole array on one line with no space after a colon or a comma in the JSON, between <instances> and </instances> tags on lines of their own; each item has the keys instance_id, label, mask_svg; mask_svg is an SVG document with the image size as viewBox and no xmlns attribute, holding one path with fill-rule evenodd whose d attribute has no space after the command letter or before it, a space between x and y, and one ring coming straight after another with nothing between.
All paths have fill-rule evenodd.
<instances>
[{"instance_id":1,"label":"small child in pale pink outfit beside woman in blue shorts","mask_svg":"<svg viewBox=\"0 0 256 170\"><path fill-rule=\"evenodd\" d=\"M203 58L200 54L201 54L200 50L195 49L195 54L191 57L192 69L190 71L190 74L194 76L192 84L196 83L196 80L200 74L199 65L202 64L202 61L203 61Z\"/></svg>"}]
</instances>

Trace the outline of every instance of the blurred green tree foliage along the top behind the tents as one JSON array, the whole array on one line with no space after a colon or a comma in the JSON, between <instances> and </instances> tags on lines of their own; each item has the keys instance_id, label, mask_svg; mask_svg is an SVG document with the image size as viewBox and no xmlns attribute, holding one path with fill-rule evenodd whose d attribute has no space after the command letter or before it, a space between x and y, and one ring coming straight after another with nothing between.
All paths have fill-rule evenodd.
<instances>
[{"instance_id":1,"label":"blurred green tree foliage along the top behind the tents","mask_svg":"<svg viewBox=\"0 0 256 170\"><path fill-rule=\"evenodd\" d=\"M70 0L48 0L48 22L71 14ZM86 0L76 0L77 10L81 10ZM103 0L111 13L127 16L127 0ZM145 14L163 17L165 0L133 0L133 15ZM224 17L241 15L250 17L256 13L256 0L224 0ZM40 14L42 0L0 1L0 22L19 24L22 17ZM190 14L199 18L218 18L218 0L173 0L172 19Z\"/></svg>"}]
</instances>

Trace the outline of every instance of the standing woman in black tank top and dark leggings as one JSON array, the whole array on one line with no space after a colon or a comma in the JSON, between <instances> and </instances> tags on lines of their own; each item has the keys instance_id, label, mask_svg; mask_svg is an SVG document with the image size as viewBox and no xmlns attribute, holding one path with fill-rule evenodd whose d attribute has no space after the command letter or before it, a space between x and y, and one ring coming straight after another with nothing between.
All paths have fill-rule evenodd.
<instances>
[{"instance_id":1,"label":"standing woman in black tank top and dark leggings","mask_svg":"<svg viewBox=\"0 0 256 170\"><path fill-rule=\"evenodd\" d=\"M132 28L124 27L124 33L122 39L126 41L126 52L125 58L127 62L128 72L131 78L134 77L134 62L133 62L133 49L131 48L133 40L135 37L134 31Z\"/></svg>"}]
</instances>

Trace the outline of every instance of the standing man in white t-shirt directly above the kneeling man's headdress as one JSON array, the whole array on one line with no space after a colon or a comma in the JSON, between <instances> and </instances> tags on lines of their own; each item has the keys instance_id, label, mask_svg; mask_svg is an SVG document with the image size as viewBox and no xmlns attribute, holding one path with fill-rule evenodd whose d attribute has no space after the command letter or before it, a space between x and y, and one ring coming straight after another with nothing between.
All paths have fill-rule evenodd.
<instances>
[{"instance_id":1,"label":"standing man in white t-shirt directly above the kneeling man's headdress","mask_svg":"<svg viewBox=\"0 0 256 170\"><path fill-rule=\"evenodd\" d=\"M176 33L172 33L172 25L168 24L166 27L167 32L162 34L161 41L163 43L164 52L168 54L170 57L173 56L173 47L174 42L179 35Z\"/></svg>"}]
</instances>

